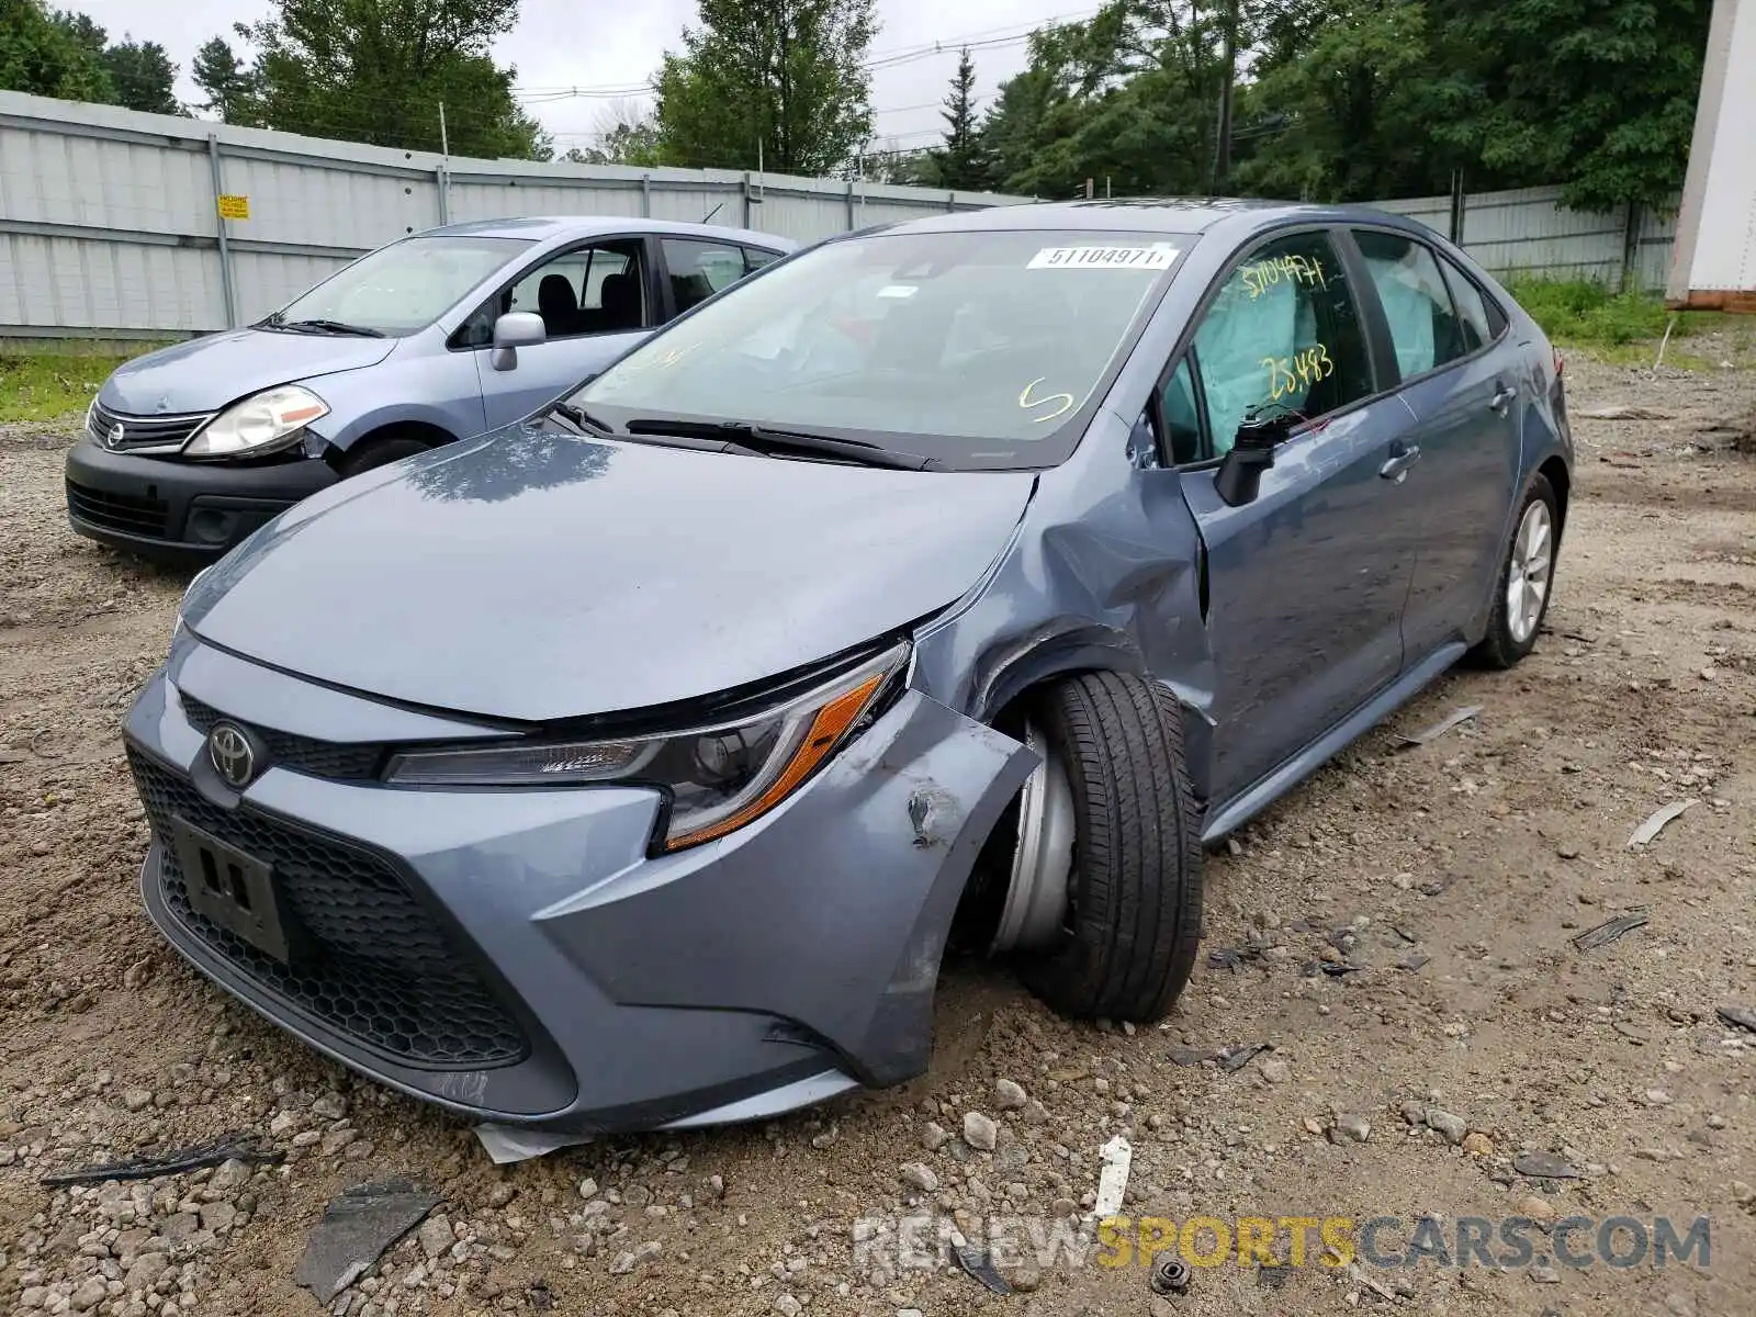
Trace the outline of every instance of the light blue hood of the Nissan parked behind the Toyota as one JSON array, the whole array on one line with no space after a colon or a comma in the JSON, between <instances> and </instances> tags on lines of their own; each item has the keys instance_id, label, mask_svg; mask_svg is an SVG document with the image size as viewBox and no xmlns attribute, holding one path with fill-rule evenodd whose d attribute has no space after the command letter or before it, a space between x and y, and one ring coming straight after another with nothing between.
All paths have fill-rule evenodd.
<instances>
[{"instance_id":1,"label":"light blue hood of the Nissan parked behind the Toyota","mask_svg":"<svg viewBox=\"0 0 1756 1317\"><path fill-rule=\"evenodd\" d=\"M130 416L218 411L274 385L378 365L395 346L397 339L227 330L116 367L98 400Z\"/></svg>"}]
</instances>

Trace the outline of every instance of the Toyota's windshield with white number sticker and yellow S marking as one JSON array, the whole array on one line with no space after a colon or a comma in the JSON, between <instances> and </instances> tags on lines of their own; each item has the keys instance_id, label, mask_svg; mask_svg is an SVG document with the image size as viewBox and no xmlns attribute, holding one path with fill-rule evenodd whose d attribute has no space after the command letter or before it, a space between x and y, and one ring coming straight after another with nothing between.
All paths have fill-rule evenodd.
<instances>
[{"instance_id":1,"label":"Toyota's windshield with white number sticker and yellow S marking","mask_svg":"<svg viewBox=\"0 0 1756 1317\"><path fill-rule=\"evenodd\" d=\"M829 242L734 286L569 402L616 423L739 420L952 464L1059 462L1189 244L968 230Z\"/></svg>"}]
</instances>

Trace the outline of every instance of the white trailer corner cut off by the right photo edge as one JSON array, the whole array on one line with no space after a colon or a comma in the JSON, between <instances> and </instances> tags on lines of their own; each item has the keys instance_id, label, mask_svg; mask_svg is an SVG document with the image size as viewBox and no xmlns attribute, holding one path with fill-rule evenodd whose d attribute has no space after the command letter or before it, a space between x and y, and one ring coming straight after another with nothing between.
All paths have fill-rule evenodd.
<instances>
[{"instance_id":1,"label":"white trailer corner cut off by the right photo edge","mask_svg":"<svg viewBox=\"0 0 1756 1317\"><path fill-rule=\"evenodd\" d=\"M1756 0L1714 0L1665 306L1756 313Z\"/></svg>"}]
</instances>

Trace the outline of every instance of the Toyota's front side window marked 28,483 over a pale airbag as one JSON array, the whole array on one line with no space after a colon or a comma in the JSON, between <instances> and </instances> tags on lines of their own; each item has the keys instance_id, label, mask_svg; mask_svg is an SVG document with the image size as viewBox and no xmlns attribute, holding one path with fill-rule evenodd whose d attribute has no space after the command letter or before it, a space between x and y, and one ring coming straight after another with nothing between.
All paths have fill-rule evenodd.
<instances>
[{"instance_id":1,"label":"Toyota's front side window marked 28,483 over a pale airbag","mask_svg":"<svg viewBox=\"0 0 1756 1317\"><path fill-rule=\"evenodd\" d=\"M1256 248L1220 284L1194 342L1212 457L1231 451L1252 411L1315 420L1373 392L1359 311L1326 234Z\"/></svg>"}]
</instances>

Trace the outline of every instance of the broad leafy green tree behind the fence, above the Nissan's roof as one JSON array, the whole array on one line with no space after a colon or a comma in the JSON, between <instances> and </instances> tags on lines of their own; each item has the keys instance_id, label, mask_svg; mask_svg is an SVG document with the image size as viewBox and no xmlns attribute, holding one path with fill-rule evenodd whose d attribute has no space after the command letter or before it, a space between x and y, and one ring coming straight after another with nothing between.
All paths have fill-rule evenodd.
<instances>
[{"instance_id":1,"label":"broad leafy green tree behind the fence, above the Nissan's roof","mask_svg":"<svg viewBox=\"0 0 1756 1317\"><path fill-rule=\"evenodd\" d=\"M513 98L516 70L492 56L493 39L518 19L518 0L274 4L272 18L237 26L255 46L248 76L235 58L227 67L218 39L202 47L212 58L197 61L197 81L212 104L248 107L269 128L409 151L441 149L444 105L453 155L553 155Z\"/></svg>"}]
</instances>

